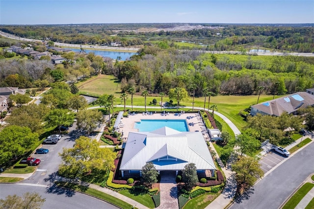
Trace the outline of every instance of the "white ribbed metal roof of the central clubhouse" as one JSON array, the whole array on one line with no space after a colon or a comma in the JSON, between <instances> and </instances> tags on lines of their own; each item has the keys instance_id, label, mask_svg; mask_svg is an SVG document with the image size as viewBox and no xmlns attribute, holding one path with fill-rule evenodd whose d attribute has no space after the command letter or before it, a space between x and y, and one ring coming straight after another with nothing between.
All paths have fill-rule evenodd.
<instances>
[{"instance_id":1,"label":"white ribbed metal roof of the central clubhouse","mask_svg":"<svg viewBox=\"0 0 314 209\"><path fill-rule=\"evenodd\" d=\"M129 132L120 170L141 170L153 162L157 170L182 170L195 163L197 170L216 169L201 132L163 127L151 132Z\"/></svg>"}]
</instances>

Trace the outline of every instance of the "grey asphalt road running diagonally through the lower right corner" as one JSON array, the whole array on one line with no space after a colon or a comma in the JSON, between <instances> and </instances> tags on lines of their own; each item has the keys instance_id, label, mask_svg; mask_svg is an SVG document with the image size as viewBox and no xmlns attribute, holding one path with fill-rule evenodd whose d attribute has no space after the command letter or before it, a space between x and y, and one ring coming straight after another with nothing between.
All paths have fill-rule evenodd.
<instances>
[{"instance_id":1,"label":"grey asphalt road running diagonally through the lower right corner","mask_svg":"<svg viewBox=\"0 0 314 209\"><path fill-rule=\"evenodd\" d=\"M314 173L314 143L303 148L265 176L231 209L278 209Z\"/></svg>"}]
</instances>

